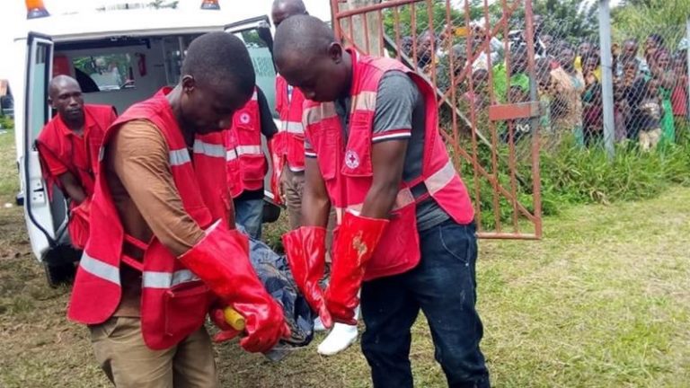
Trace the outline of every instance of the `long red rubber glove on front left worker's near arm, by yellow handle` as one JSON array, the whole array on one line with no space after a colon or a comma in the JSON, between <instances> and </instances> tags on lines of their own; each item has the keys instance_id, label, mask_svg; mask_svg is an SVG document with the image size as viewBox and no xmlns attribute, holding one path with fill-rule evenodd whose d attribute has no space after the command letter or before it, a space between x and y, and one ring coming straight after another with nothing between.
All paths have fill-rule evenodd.
<instances>
[{"instance_id":1,"label":"long red rubber glove on front left worker's near arm, by yellow handle","mask_svg":"<svg viewBox=\"0 0 690 388\"><path fill-rule=\"evenodd\" d=\"M225 304L242 314L247 336L240 345L265 353L289 336L283 309L266 292L249 261L249 240L217 222L206 236L179 258Z\"/></svg>"}]
</instances>

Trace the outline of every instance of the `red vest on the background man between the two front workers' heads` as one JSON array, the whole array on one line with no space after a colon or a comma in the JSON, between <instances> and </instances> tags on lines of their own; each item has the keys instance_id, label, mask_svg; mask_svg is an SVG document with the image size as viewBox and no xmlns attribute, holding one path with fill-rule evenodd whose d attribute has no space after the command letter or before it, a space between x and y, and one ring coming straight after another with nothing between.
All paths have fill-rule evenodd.
<instances>
[{"instance_id":1,"label":"red vest on the background man between the two front workers' heads","mask_svg":"<svg viewBox=\"0 0 690 388\"><path fill-rule=\"evenodd\" d=\"M305 130L302 127L302 113L305 95L292 89L288 95L288 81L281 75L276 77L276 111L280 119L278 134L273 137L273 168L282 172L285 163L294 171L305 169Z\"/></svg>"}]
</instances>

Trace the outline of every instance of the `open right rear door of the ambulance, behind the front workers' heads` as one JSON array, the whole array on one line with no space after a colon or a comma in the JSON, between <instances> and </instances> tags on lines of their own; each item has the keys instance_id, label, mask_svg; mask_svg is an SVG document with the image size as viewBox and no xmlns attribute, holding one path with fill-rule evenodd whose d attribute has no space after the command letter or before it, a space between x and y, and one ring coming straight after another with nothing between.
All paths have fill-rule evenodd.
<instances>
[{"instance_id":1,"label":"open right rear door of the ambulance, behind the front workers' heads","mask_svg":"<svg viewBox=\"0 0 690 388\"><path fill-rule=\"evenodd\" d=\"M242 22L234 22L225 27L227 33L232 33L243 40L244 46L252 58L256 84L261 88L269 102L273 120L280 128L276 106L276 66L273 62L273 35L270 30L269 17L258 16ZM263 137L261 137L263 139ZM265 141L265 139L263 139ZM268 146L263 145L264 154L269 154ZM269 156L270 161L270 156ZM264 188L270 188L270 177L273 173L273 163L268 163L269 172L264 179ZM274 202L274 194L270 190L264 191L263 222L275 222L280 216L280 207Z\"/></svg>"}]
</instances>

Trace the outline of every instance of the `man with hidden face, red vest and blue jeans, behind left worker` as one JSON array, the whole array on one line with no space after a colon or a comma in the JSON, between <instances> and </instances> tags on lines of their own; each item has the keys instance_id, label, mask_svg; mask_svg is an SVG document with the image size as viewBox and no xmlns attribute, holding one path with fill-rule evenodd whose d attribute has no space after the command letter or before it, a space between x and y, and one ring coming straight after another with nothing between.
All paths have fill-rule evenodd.
<instances>
[{"instance_id":1,"label":"man with hidden face, red vest and blue jeans, behind left worker","mask_svg":"<svg viewBox=\"0 0 690 388\"><path fill-rule=\"evenodd\" d=\"M247 234L261 239L263 179L268 172L261 134L270 140L278 133L269 103L256 86L252 99L234 113L226 130L227 181L234 202L234 220Z\"/></svg>"}]
</instances>

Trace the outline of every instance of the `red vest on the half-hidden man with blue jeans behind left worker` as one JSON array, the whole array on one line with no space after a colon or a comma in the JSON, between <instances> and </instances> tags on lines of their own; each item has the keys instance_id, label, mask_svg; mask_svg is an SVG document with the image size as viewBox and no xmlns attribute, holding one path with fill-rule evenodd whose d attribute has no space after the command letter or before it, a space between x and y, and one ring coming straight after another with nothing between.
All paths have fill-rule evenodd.
<instances>
[{"instance_id":1,"label":"red vest on the half-hidden man with blue jeans behind left worker","mask_svg":"<svg viewBox=\"0 0 690 388\"><path fill-rule=\"evenodd\" d=\"M261 190L268 172L266 157L261 150L261 115L256 89L233 117L233 126L226 136L227 182L233 198L245 190Z\"/></svg>"}]
</instances>

